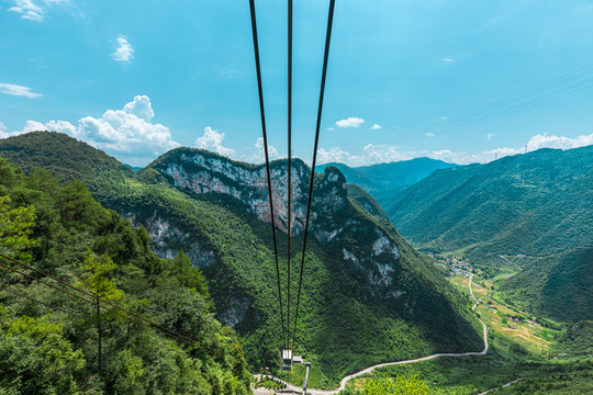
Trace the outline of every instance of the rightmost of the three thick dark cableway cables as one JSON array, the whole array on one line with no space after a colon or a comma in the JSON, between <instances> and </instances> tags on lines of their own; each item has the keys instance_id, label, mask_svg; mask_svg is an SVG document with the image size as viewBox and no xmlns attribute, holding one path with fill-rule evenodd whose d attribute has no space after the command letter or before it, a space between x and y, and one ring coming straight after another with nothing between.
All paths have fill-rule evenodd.
<instances>
[{"instance_id":1,"label":"rightmost of the three thick dark cableway cables","mask_svg":"<svg viewBox=\"0 0 593 395\"><path fill-rule=\"evenodd\" d=\"M311 215L311 202L313 198L313 183L315 179L315 163L317 160L317 146L320 143L320 128L321 128L321 119L322 119L322 110L323 110L323 97L325 93L325 77L327 75L327 59L329 57L329 42L332 38L332 25L334 23L334 7L335 7L335 0L329 0L329 11L327 15L327 32L325 34L325 53L323 55L323 70L322 70L322 80L321 80L321 89L320 89L320 105L317 108L317 123L315 126L315 144L313 147L313 162L311 165L311 183L309 185L309 202L306 204L306 218L305 218L304 239L303 239L303 256L301 259L299 293L296 296L296 309L294 313L294 330L292 331L293 341L296 336L296 321L299 319L299 307L300 307L300 302L301 302L301 285L303 282L303 269L304 269L304 259L305 259L305 252L306 252L306 237L309 235L309 221L310 221L310 215Z\"/></svg>"}]
</instances>

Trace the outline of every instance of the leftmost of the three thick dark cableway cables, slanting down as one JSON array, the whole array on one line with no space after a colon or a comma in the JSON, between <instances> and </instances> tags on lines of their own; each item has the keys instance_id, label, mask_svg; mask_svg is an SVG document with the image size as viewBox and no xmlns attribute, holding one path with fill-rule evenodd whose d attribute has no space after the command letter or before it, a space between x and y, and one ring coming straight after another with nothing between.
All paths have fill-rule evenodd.
<instances>
[{"instance_id":1,"label":"leftmost of the three thick dark cableway cables, slanting down","mask_svg":"<svg viewBox=\"0 0 593 395\"><path fill-rule=\"evenodd\" d=\"M249 0L249 10L251 14L251 33L254 41L254 54L256 60L256 75L257 75L257 90L259 94L259 114L261 117L261 134L264 136L264 154L266 157L266 176L268 179L268 198L270 200L270 217L271 217L271 228L272 228L272 238L273 238L273 256L276 259L276 276L278 280L278 300L280 302L280 319L282 323L282 342L288 345L284 327L284 315L282 312L282 293L280 290L280 267L278 264L278 244L276 242L276 223L273 217L273 200L272 200L272 185L271 185L271 176L270 176L270 158L268 155L268 134L266 133L266 113L264 111L264 90L261 88L261 66L259 64L259 44L257 41L257 22L256 22L256 10L255 1ZM290 321L287 321L290 325Z\"/></svg>"}]
</instances>

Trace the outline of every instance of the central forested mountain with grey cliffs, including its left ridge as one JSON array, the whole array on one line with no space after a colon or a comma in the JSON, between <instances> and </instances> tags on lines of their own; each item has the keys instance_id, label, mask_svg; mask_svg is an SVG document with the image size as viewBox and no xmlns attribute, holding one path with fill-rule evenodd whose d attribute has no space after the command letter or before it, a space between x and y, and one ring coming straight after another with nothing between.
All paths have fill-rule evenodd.
<instances>
[{"instance_id":1,"label":"central forested mountain with grey cliffs, including its left ridge","mask_svg":"<svg viewBox=\"0 0 593 395\"><path fill-rule=\"evenodd\" d=\"M37 149L22 155L27 146ZM56 176L63 168L71 174L70 165L53 153L81 146L88 147L64 135L32 133L0 142L0 155L22 168L43 162ZM87 155L104 157L92 148ZM248 361L255 366L278 364L281 323L265 167L178 148L137 174L120 169L121 163L112 161L110 171L121 177L91 174L85 182L104 206L135 227L144 226L160 257L183 249L202 268L216 317L237 331ZM287 161L275 161L271 170L286 301ZM292 312L309 171L294 160ZM468 301L380 212L369 213L371 196L349 191L336 168L316 177L295 342L295 352L314 361L315 380L331 385L374 362L481 349Z\"/></svg>"}]
</instances>

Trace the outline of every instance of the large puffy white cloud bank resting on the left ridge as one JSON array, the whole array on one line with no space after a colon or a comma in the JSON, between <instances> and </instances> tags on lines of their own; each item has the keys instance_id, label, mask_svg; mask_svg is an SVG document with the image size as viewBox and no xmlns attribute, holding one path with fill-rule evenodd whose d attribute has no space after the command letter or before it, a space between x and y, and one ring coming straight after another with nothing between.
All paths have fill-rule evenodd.
<instances>
[{"instance_id":1,"label":"large puffy white cloud bank resting on the left ridge","mask_svg":"<svg viewBox=\"0 0 593 395\"><path fill-rule=\"evenodd\" d=\"M150 99L136 95L122 110L108 110L101 117L85 116L78 121L77 126L67 121L27 121L22 131L2 132L0 136L10 137L34 131L61 132L103 149L130 165L146 165L166 150L179 147L179 144L172 140L169 128L153 123L153 117Z\"/></svg>"}]
</instances>

